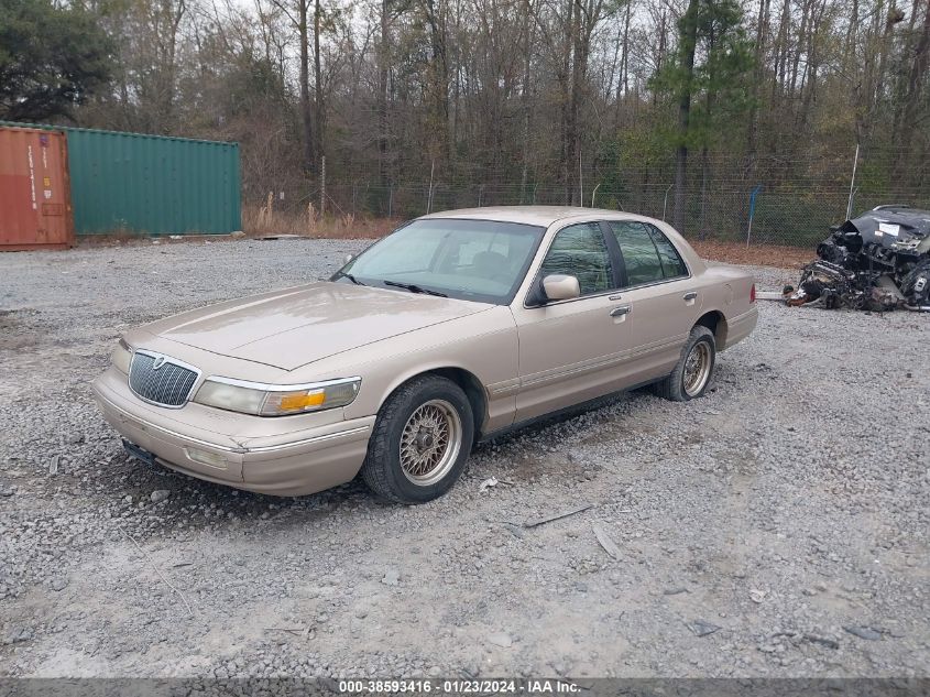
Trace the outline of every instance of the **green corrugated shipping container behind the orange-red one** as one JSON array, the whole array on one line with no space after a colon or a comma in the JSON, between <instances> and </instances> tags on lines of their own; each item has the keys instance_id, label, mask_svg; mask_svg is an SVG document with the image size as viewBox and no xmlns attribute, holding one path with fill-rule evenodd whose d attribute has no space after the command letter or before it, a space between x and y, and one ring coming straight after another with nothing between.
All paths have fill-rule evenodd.
<instances>
[{"instance_id":1,"label":"green corrugated shipping container behind the orange-red one","mask_svg":"<svg viewBox=\"0 0 930 697\"><path fill-rule=\"evenodd\" d=\"M77 235L226 235L242 229L239 143L32 128L67 135Z\"/></svg>"}]
</instances>

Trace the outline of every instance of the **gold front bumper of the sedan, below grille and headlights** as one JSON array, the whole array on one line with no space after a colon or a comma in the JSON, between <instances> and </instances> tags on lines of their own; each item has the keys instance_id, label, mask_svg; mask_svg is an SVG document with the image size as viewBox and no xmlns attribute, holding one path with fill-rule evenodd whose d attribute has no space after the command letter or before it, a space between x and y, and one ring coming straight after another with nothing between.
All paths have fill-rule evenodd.
<instances>
[{"instance_id":1,"label":"gold front bumper of the sedan, below grille and headlights","mask_svg":"<svg viewBox=\"0 0 930 697\"><path fill-rule=\"evenodd\" d=\"M278 497L351 480L364 461L375 418L346 421L342 410L269 418L195 403L163 409L132 394L125 375L112 367L91 389L107 422L161 465Z\"/></svg>"}]
</instances>

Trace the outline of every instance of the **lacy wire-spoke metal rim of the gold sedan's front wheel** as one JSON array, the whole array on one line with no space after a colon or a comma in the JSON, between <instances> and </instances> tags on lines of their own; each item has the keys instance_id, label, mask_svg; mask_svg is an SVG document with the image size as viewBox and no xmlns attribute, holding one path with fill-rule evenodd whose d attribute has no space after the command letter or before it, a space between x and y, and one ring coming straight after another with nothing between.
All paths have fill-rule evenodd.
<instances>
[{"instance_id":1,"label":"lacy wire-spoke metal rim of the gold sedan's front wheel","mask_svg":"<svg viewBox=\"0 0 930 697\"><path fill-rule=\"evenodd\" d=\"M446 400L430 400L411 414L401 433L401 468L419 487L441 480L462 446L462 422Z\"/></svg>"}]
</instances>

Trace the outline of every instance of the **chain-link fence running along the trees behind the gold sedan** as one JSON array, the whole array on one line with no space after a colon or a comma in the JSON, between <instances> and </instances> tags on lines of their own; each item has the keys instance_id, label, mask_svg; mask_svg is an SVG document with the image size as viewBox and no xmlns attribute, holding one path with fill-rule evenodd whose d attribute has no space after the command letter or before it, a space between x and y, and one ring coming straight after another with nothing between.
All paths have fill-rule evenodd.
<instances>
[{"instance_id":1,"label":"chain-link fence running along the trees behind the gold sedan","mask_svg":"<svg viewBox=\"0 0 930 697\"><path fill-rule=\"evenodd\" d=\"M767 181L759 176L753 181L736 176L735 166L719 163L714 171L722 174L704 181L694 170L689 175L680 231L698 240L812 248L829 235L831 226L846 219L850 205L853 216L883 204L930 207L930 186L878 185L874 181L851 186L850 174L842 172L852 172L852 166L823 165L818 170L816 161L788 164L808 175L769 176ZM319 233L315 220L335 220L340 235L349 236L353 228L360 229L363 220L381 221L378 230L382 230L438 210L566 205L572 199L576 205L581 202L586 207L625 210L669 222L674 217L675 185L670 176L658 176L656 171L623 172L623 184L617 184L617 174L591 170L584 172L583 185L571 192L552 184L551 176L548 182L538 183L530 181L532 176L525 183L501 176L493 182L474 183L480 182L478 173L466 172L463 178L468 181L449 183L437 175L431 182L387 185L378 183L376 174L350 182L291 179L269 192L263 200L251 202L251 209L247 203L244 218L254 219L255 211L272 207L273 220L266 227L276 232ZM909 178L921 182L927 177ZM270 219L265 215L265 220Z\"/></svg>"}]
</instances>

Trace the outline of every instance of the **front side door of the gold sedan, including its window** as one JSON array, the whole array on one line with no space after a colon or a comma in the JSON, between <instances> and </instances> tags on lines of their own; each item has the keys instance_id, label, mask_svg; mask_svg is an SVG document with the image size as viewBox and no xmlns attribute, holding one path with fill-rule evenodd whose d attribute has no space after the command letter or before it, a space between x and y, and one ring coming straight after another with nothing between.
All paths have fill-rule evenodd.
<instances>
[{"instance_id":1,"label":"front side door of the gold sedan, including its window","mask_svg":"<svg viewBox=\"0 0 930 697\"><path fill-rule=\"evenodd\" d=\"M632 349L626 311L617 311L617 259L605 229L581 222L559 230L536 275L569 274L581 296L512 309L519 333L516 421L621 389L623 356Z\"/></svg>"}]
</instances>

